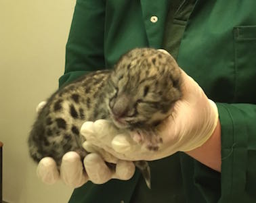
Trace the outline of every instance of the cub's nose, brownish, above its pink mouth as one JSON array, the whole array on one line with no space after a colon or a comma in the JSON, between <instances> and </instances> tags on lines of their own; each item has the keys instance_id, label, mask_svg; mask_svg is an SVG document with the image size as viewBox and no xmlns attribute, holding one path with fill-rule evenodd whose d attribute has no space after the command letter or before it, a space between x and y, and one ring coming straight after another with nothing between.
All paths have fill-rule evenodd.
<instances>
[{"instance_id":1,"label":"cub's nose, brownish, above its pink mouth","mask_svg":"<svg viewBox=\"0 0 256 203\"><path fill-rule=\"evenodd\" d=\"M116 102L114 103L114 106L112 107L112 113L116 117L122 117L127 113L129 107L129 98L126 95L121 95L118 98L116 98Z\"/></svg>"}]
</instances>

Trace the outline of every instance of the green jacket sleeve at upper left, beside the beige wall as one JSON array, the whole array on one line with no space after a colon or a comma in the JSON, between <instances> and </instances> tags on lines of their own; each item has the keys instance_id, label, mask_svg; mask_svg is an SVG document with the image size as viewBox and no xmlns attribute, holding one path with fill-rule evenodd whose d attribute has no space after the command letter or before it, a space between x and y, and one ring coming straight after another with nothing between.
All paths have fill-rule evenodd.
<instances>
[{"instance_id":1,"label":"green jacket sleeve at upper left, beside the beige wall","mask_svg":"<svg viewBox=\"0 0 256 203\"><path fill-rule=\"evenodd\" d=\"M89 71L104 68L104 16L102 0L78 0L66 44L62 86Z\"/></svg>"}]
</instances>

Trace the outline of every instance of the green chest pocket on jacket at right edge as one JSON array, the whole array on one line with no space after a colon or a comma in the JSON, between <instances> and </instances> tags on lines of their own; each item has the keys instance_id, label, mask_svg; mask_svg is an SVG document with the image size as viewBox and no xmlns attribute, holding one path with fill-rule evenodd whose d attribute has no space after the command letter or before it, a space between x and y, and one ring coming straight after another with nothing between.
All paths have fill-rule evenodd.
<instances>
[{"instance_id":1,"label":"green chest pocket on jacket at right edge","mask_svg":"<svg viewBox=\"0 0 256 203\"><path fill-rule=\"evenodd\" d=\"M256 25L237 26L234 34L236 103L256 103Z\"/></svg>"}]
</instances>

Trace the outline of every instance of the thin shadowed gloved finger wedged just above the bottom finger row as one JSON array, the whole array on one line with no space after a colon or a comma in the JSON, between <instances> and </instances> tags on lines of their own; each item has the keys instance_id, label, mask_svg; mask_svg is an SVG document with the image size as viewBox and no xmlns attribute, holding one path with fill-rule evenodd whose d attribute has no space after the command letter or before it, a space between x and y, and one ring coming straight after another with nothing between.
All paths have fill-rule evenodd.
<instances>
[{"instance_id":1,"label":"thin shadowed gloved finger wedged just above the bottom finger row","mask_svg":"<svg viewBox=\"0 0 256 203\"><path fill-rule=\"evenodd\" d=\"M119 161L118 158L116 158L109 152L106 152L106 150L104 150L103 148L95 146L90 142L83 142L83 148L85 148L87 152L100 154L100 156L102 156L102 158L108 163L117 163L117 161Z\"/></svg>"}]
</instances>

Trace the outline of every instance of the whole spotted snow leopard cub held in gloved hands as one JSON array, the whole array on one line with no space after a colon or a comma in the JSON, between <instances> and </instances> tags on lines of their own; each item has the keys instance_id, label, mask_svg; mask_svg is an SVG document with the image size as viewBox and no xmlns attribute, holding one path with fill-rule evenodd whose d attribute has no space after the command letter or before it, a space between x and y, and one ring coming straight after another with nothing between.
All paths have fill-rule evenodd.
<instances>
[{"instance_id":1,"label":"whole spotted snow leopard cub held in gloved hands","mask_svg":"<svg viewBox=\"0 0 256 203\"><path fill-rule=\"evenodd\" d=\"M142 142L148 150L157 150L163 140L152 129L181 96L180 71L171 56L156 49L133 49L113 69L87 74L49 97L28 138L30 156L37 163L51 156L58 167L68 151L85 157L85 138L79 131L85 121L97 119L144 132ZM148 164L138 161L135 165L149 181Z\"/></svg>"}]
</instances>

